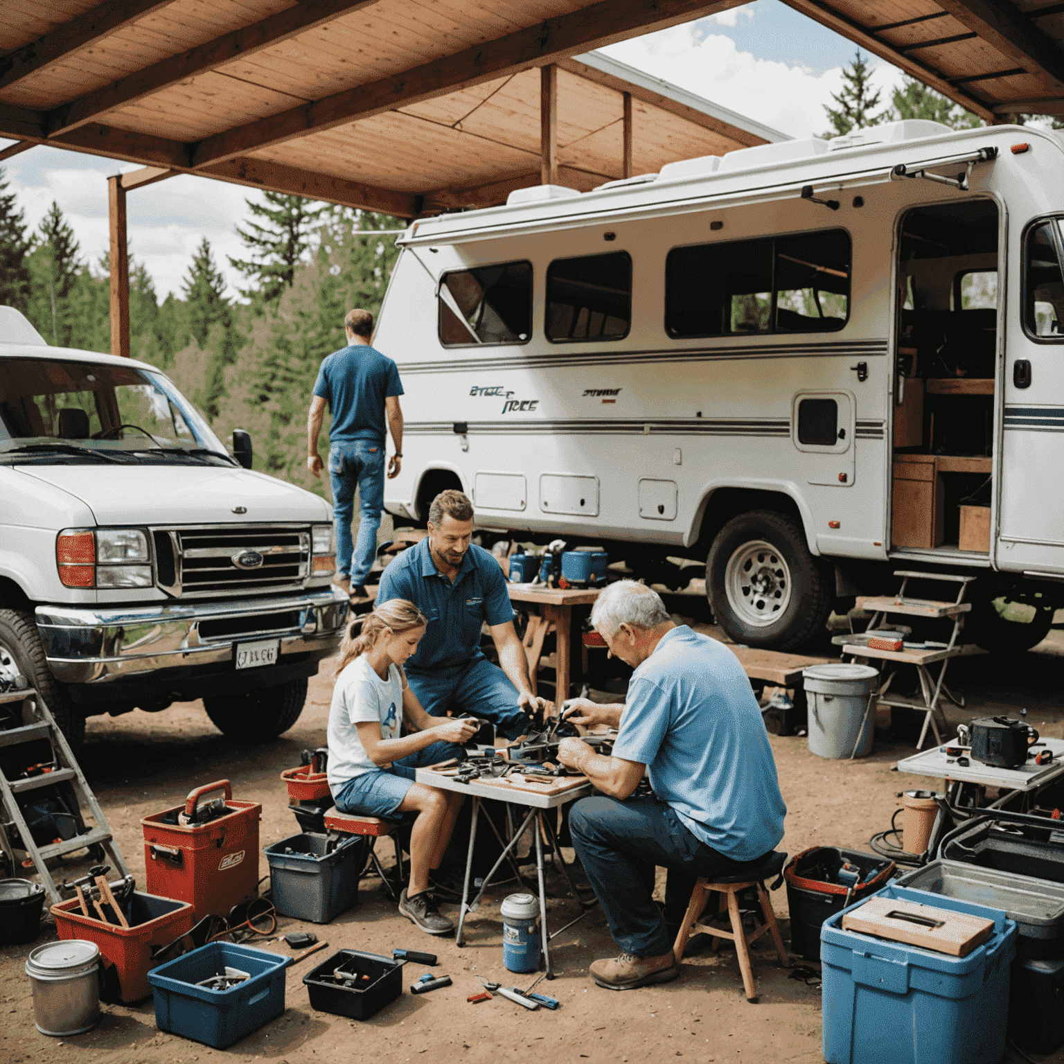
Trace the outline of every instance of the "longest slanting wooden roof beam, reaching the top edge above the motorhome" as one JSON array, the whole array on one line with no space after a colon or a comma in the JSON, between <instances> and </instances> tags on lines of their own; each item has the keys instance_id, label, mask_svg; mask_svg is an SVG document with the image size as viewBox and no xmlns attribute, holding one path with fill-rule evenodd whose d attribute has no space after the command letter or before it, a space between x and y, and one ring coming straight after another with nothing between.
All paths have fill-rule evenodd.
<instances>
[{"instance_id":1,"label":"longest slanting wooden roof beam, reaching the top edge above the motorhome","mask_svg":"<svg viewBox=\"0 0 1064 1064\"><path fill-rule=\"evenodd\" d=\"M480 85L532 67L568 59L602 45L625 40L701 18L746 0L599 0L599 3L497 40L466 48L380 81L345 89L312 103L226 130L194 147L193 165L246 155L432 97Z\"/></svg>"}]
</instances>

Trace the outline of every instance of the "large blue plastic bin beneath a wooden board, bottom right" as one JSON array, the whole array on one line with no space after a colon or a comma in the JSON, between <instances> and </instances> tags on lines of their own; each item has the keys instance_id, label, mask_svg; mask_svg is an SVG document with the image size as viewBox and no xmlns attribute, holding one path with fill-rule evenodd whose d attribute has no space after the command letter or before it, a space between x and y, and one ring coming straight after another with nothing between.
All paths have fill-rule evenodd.
<instances>
[{"instance_id":1,"label":"large blue plastic bin beneath a wooden board, bottom right","mask_svg":"<svg viewBox=\"0 0 1064 1064\"><path fill-rule=\"evenodd\" d=\"M1004 1054L1016 924L999 909L886 886L871 897L994 920L967 957L843 930L850 905L820 928L828 1064L995 1064ZM868 899L863 899L864 904Z\"/></svg>"}]
</instances>

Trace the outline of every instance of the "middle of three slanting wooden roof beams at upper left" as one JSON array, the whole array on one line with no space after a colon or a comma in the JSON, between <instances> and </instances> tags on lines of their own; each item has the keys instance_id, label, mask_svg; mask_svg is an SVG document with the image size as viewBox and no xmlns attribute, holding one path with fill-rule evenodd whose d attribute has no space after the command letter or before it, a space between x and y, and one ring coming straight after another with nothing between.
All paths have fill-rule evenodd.
<instances>
[{"instance_id":1,"label":"middle of three slanting wooden roof beams at upper left","mask_svg":"<svg viewBox=\"0 0 1064 1064\"><path fill-rule=\"evenodd\" d=\"M137 70L95 93L65 103L49 112L47 129L50 136L78 129L115 107L126 106L159 93L169 85L194 78L215 67L247 59L267 48L289 40L301 33L368 7L379 0L314 0L278 12L261 22L215 37L180 55L171 55L152 66Z\"/></svg>"}]
</instances>

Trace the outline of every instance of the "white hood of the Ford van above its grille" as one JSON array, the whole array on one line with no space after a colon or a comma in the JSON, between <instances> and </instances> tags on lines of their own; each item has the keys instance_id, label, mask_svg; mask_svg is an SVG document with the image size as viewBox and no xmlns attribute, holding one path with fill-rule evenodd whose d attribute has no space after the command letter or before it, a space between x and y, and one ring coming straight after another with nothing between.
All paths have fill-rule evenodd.
<instances>
[{"instance_id":1,"label":"white hood of the Ford van above its grille","mask_svg":"<svg viewBox=\"0 0 1064 1064\"><path fill-rule=\"evenodd\" d=\"M220 466L24 465L92 510L98 525L247 525L328 521L325 499L249 469ZM237 508L246 513L234 513Z\"/></svg>"}]
</instances>

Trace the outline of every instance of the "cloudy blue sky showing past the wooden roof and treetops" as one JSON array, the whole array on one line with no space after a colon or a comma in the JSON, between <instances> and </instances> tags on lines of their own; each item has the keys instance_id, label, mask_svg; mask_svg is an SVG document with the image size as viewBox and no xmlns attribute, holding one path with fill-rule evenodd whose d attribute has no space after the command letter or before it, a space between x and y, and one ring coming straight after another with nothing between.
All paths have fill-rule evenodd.
<instances>
[{"instance_id":1,"label":"cloudy blue sky showing past the wooden roof and treetops","mask_svg":"<svg viewBox=\"0 0 1064 1064\"><path fill-rule=\"evenodd\" d=\"M791 136L826 129L824 105L841 83L854 46L779 0L674 27L604 49L658 78L749 115ZM900 72L872 60L884 100ZM0 146L6 142L0 140ZM77 152L38 147L0 164L18 193L27 220L36 227L52 201L72 226L84 256L95 263L107 247L109 174L137 169ZM227 255L240 256L236 225L255 193L204 178L182 176L138 189L127 200L131 250L151 273L160 298L180 293L193 252L206 236L235 296L242 277Z\"/></svg>"}]
</instances>

